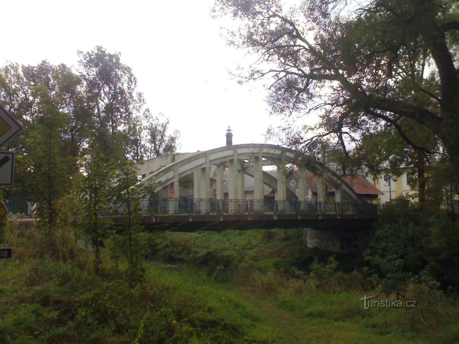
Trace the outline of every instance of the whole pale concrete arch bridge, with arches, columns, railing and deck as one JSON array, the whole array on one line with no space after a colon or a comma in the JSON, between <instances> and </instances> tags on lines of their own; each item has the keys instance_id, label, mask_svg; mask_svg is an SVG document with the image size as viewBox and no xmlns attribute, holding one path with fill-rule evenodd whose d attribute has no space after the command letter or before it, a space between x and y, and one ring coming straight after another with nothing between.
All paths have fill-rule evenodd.
<instances>
[{"instance_id":1,"label":"whole pale concrete arch bridge, with arches, columns, railing and deck","mask_svg":"<svg viewBox=\"0 0 459 344\"><path fill-rule=\"evenodd\" d=\"M145 200L149 215L144 222L175 230L371 224L377 205L361 200L352 185L319 162L315 173L307 172L305 161L310 159L277 145L227 142L212 150L139 162L140 183L154 183L159 194ZM314 179L316 190L308 178Z\"/></svg>"}]
</instances>

